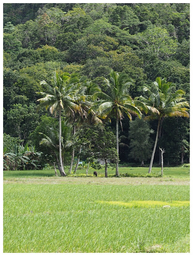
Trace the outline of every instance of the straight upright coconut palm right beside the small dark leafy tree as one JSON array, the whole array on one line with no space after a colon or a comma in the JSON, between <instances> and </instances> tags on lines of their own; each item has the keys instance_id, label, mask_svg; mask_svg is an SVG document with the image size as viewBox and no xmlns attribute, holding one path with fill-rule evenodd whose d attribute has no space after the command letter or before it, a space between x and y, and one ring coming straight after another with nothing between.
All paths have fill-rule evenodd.
<instances>
[{"instance_id":1,"label":"straight upright coconut palm right beside the small dark leafy tree","mask_svg":"<svg viewBox=\"0 0 193 256\"><path fill-rule=\"evenodd\" d=\"M105 78L105 83L107 85L107 93L96 92L94 94L95 98L99 98L96 104L92 107L94 110L99 111L99 117L107 121L109 118L116 117L116 149L117 154L119 153L119 131L118 123L124 117L124 113L132 119L131 115L141 116L139 108L146 110L144 104L139 101L134 101L131 96L129 96L129 86L133 84L133 80L129 78L126 74L118 74L111 70L110 80ZM139 107L139 108L138 108ZM119 176L118 161L116 163L116 176Z\"/></svg>"}]
</instances>

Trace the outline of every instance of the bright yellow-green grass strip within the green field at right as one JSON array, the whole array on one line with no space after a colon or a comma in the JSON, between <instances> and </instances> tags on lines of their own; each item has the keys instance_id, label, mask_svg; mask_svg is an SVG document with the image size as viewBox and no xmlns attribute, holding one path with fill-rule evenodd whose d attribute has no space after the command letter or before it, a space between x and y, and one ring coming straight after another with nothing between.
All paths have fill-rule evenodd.
<instances>
[{"instance_id":1,"label":"bright yellow-green grass strip within the green field at right","mask_svg":"<svg viewBox=\"0 0 193 256\"><path fill-rule=\"evenodd\" d=\"M130 202L120 202L120 201L98 201L99 203L105 204L115 204L115 205L122 205L126 207L156 207L156 206L171 206L171 207L180 207L180 206L190 206L190 201L173 201L172 203L163 202L163 201L130 201Z\"/></svg>"}]
</instances>

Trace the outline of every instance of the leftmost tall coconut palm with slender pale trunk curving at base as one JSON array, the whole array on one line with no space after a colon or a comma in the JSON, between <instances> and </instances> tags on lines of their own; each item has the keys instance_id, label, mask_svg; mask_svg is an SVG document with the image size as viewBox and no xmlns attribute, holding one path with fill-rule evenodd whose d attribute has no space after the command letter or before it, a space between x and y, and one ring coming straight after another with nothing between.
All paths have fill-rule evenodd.
<instances>
[{"instance_id":1,"label":"leftmost tall coconut palm with slender pale trunk curving at base","mask_svg":"<svg viewBox=\"0 0 193 256\"><path fill-rule=\"evenodd\" d=\"M63 176L66 176L64 172L64 167L62 163L62 155L61 155L61 110L65 111L78 111L80 106L78 106L75 101L77 91L78 91L78 82L79 78L74 76L73 74L69 74L67 72L60 74L53 72L53 86L50 86L46 81L41 81L41 85L46 86L46 92L37 92L42 95L43 98L38 99L40 102L40 107L50 106L50 112L53 114L59 112L59 162L60 168Z\"/></svg>"}]
</instances>

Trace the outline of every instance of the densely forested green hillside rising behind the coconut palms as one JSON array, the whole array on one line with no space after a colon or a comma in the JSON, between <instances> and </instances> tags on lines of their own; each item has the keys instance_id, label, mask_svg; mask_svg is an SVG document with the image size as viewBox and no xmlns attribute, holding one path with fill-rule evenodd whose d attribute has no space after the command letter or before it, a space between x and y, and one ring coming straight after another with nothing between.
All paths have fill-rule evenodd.
<instances>
[{"instance_id":1,"label":"densely forested green hillside rising behind the coconut palms","mask_svg":"<svg viewBox=\"0 0 193 256\"><path fill-rule=\"evenodd\" d=\"M97 112L94 114L96 108L90 112L86 109L95 104L94 100L100 102L100 90L108 93L104 78L110 79L111 70L131 78L129 95L132 99L147 98L148 91L144 91L144 87L151 89L156 78L161 77L175 84L172 93L183 90L183 101L190 101L189 3L4 3L3 13L4 153L15 150L14 154L17 152L19 157L27 144L28 151L40 160L39 168L55 161L54 153L50 155L55 151L39 142L42 134L51 136L46 127L52 128L52 132L59 130L59 112L53 115L49 107L37 110L37 100L42 98L37 92L47 92L46 84L40 82L44 80L53 85L55 70L79 79L78 83L87 88L85 95L89 95L82 98L82 112L71 109L70 114L65 108L61 111L62 125L66 127L62 140L74 141L71 146L69 143L65 146L62 141L66 165L72 164L73 154L78 158L81 140L87 140L88 126L98 118L104 120ZM92 97L94 93L98 98ZM74 102L78 104L78 96ZM141 112L142 119L148 116L147 112ZM77 113L82 121L76 118ZM130 121L123 115L119 122L120 161L130 165L141 165L142 161L148 164L158 119L140 122L131 114L133 121ZM107 134L101 135L109 136L109 141L115 140L116 132L116 117L112 115L110 119L111 122L106 122ZM180 114L166 116L160 127L154 163L160 161L159 147L165 149L164 163L189 163L189 118ZM77 138L73 140L75 133ZM56 137L57 134L52 142ZM15 143L21 145L20 150L14 149ZM137 145L141 147L138 149ZM42 153L38 155L38 152ZM91 157L86 147L81 154L82 160ZM30 168L34 166L32 160Z\"/></svg>"}]
</instances>

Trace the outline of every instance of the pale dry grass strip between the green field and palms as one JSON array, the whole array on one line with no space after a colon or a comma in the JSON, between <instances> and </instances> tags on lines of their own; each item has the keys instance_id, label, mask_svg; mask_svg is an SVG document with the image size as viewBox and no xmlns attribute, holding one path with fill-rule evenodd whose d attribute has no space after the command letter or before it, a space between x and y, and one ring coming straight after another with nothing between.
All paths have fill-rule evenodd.
<instances>
[{"instance_id":1,"label":"pale dry grass strip between the green field and palms","mask_svg":"<svg viewBox=\"0 0 193 256\"><path fill-rule=\"evenodd\" d=\"M190 180L185 178L101 178L101 177L41 177L41 178L14 178L9 177L3 183L19 184L95 184L95 185L190 185Z\"/></svg>"}]
</instances>

